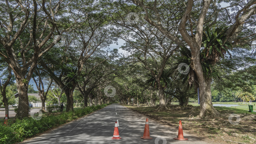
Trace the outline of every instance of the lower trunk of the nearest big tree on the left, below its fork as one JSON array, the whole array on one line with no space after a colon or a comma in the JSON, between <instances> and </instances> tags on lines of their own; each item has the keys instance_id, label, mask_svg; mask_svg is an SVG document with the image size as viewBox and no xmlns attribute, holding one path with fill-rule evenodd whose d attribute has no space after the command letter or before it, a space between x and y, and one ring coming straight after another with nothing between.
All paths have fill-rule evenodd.
<instances>
[{"instance_id":1,"label":"lower trunk of the nearest big tree on the left, below its fork","mask_svg":"<svg viewBox=\"0 0 256 144\"><path fill-rule=\"evenodd\" d=\"M18 104L18 111L16 117L18 119L23 119L24 117L28 117L28 96L27 96L27 89L28 89L28 82L23 83L21 79L16 78L17 90L19 94L19 104Z\"/></svg>"}]
</instances>

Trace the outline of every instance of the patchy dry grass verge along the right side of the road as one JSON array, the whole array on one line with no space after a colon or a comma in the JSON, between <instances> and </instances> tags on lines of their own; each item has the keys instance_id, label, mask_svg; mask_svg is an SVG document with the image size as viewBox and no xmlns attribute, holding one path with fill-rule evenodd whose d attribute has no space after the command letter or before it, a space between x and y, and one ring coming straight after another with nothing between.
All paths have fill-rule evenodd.
<instances>
[{"instance_id":1,"label":"patchy dry grass verge along the right side of the road","mask_svg":"<svg viewBox=\"0 0 256 144\"><path fill-rule=\"evenodd\" d=\"M177 107L177 105L167 105L169 110L165 111L157 111L157 107L155 106L124 106L177 128L177 134L179 121L181 120L183 132L197 135L200 138L211 139L216 143L256 143L256 112L250 113L241 109L216 106L215 108L224 117L207 117L199 119L196 118L196 116L199 114L200 106L182 108ZM232 116L231 114L233 113L240 117L240 121L237 125L231 124L232 122L237 121L236 117L232 118L231 123L229 122L228 117ZM189 118L190 114L192 114L194 118Z\"/></svg>"}]
</instances>

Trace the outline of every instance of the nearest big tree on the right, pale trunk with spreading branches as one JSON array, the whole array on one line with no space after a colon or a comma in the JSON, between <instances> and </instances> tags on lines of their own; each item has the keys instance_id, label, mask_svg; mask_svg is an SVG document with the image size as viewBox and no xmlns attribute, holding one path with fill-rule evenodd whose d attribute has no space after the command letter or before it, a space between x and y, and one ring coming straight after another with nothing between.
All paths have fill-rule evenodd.
<instances>
[{"instance_id":1,"label":"nearest big tree on the right, pale trunk with spreading branches","mask_svg":"<svg viewBox=\"0 0 256 144\"><path fill-rule=\"evenodd\" d=\"M236 37L241 32L241 29L244 27L246 20L250 18L253 14L255 14L255 0L248 1L248 3L240 3L235 2L230 4L230 6L222 8L219 5L219 1L211 1L204 0L201 2L194 2L193 0L188 0L187 4L185 1L178 2L170 2L170 1L162 1L162 0L154 0L149 2L144 2L141 0L131 0L134 4L143 8L145 12L144 19L152 26L156 27L161 33L163 33L166 37L173 40L177 45L181 47L185 47L186 45L179 39L179 37L175 36L173 33L170 33L166 28L166 19L162 12L168 11L170 9L172 11L179 12L180 9L185 9L184 14L180 19L179 23L179 32L182 35L182 38L185 40L186 44L190 47L192 52L190 67L195 71L196 76L198 77L198 86L199 86L199 94L200 94L200 114L199 117L205 117L207 113L210 115L216 115L218 112L214 109L211 103L211 90L210 83L211 78L205 78L204 71L202 68L202 64L200 61L200 50L202 47L202 37L204 26L208 25L209 27L213 26L217 23L217 19L219 13L223 10L241 6L236 12L235 17L230 20L230 27L227 30L226 40L222 42L223 45L227 42L227 40L232 43L236 41ZM212 3L211 3L212 2ZM171 3L171 4L170 4ZM186 4L186 8L184 4ZM200 6L199 6L200 5ZM210 7L212 5L212 7ZM198 9L198 6L200 9ZM212 10L212 13L207 13L208 10ZM168 10L164 10L168 9ZM193 10L193 11L192 11ZM227 11L228 12L228 11ZM152 16L153 14L153 16ZM207 17L206 17L207 16ZM229 12L227 17L229 16ZM230 16L229 16L230 18ZM191 21L193 20L193 22ZM220 20L220 19L219 19ZM232 23L234 21L234 23ZM246 36L247 37L247 36ZM245 37L245 38L246 38ZM210 47L209 47L210 49ZM222 52L216 57L216 61L221 57Z\"/></svg>"}]
</instances>

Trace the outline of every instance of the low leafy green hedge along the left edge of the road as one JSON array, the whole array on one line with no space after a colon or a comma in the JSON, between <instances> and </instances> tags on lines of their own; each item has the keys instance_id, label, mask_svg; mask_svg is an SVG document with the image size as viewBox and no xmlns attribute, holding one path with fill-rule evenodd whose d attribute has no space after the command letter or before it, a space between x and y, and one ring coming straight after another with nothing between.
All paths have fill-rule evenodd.
<instances>
[{"instance_id":1,"label":"low leafy green hedge along the left edge of the road","mask_svg":"<svg viewBox=\"0 0 256 144\"><path fill-rule=\"evenodd\" d=\"M7 144L23 141L27 137L70 122L77 117L82 117L105 106L107 105L97 105L75 111L63 112L55 116L43 116L40 120L34 120L31 117L24 118L23 120L17 119L16 122L11 125L0 125L0 143Z\"/></svg>"}]
</instances>

